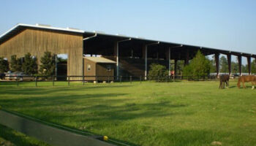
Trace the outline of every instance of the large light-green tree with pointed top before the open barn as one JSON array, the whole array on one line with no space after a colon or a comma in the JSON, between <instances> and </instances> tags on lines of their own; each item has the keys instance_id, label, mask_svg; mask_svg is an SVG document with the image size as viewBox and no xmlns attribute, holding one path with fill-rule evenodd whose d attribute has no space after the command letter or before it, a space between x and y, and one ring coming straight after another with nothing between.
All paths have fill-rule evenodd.
<instances>
[{"instance_id":1,"label":"large light-green tree with pointed top before the open barn","mask_svg":"<svg viewBox=\"0 0 256 146\"><path fill-rule=\"evenodd\" d=\"M192 59L189 65L184 67L184 76L207 76L210 74L210 69L210 61L198 50L195 58Z\"/></svg>"}]
</instances>

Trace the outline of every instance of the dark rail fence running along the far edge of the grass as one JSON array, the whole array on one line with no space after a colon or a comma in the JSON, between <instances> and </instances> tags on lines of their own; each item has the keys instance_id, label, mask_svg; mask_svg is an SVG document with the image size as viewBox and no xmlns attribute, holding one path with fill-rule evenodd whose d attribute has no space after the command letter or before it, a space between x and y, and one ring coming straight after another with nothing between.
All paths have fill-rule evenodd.
<instances>
[{"instance_id":1,"label":"dark rail fence running along the far edge of the grass","mask_svg":"<svg viewBox=\"0 0 256 146\"><path fill-rule=\"evenodd\" d=\"M189 81L206 81L216 80L217 77L214 75L209 76L7 76L4 77L0 82L16 82L19 86L20 82L34 82L37 87L38 82L52 82L54 86L56 82L64 81L67 85L70 82L82 82L85 85L86 82L144 82L154 80L156 82L176 82L178 80L189 80Z\"/></svg>"}]
</instances>

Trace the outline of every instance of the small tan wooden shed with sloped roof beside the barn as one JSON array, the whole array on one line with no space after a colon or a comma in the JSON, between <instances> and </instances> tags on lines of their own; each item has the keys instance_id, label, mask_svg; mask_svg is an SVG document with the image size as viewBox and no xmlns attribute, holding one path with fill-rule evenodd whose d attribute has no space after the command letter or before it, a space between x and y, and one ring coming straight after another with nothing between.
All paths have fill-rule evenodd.
<instances>
[{"instance_id":1,"label":"small tan wooden shed with sloped roof beside the barn","mask_svg":"<svg viewBox=\"0 0 256 146\"><path fill-rule=\"evenodd\" d=\"M86 81L113 81L116 62L103 57L84 57L83 74ZM91 77L90 77L91 76Z\"/></svg>"}]
</instances>

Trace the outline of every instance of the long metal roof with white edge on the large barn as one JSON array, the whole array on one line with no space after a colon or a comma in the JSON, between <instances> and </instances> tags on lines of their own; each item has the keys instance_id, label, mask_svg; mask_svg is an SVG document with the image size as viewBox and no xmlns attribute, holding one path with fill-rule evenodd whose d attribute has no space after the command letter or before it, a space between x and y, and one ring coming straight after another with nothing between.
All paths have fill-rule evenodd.
<instances>
[{"instance_id":1,"label":"long metal roof with white edge on the large barn","mask_svg":"<svg viewBox=\"0 0 256 146\"><path fill-rule=\"evenodd\" d=\"M52 31L62 31L62 32L68 32L68 33L83 34L83 37L89 37L91 35L97 34L98 36L111 37L111 38L115 38L116 40L131 38L132 40L143 41L145 43L159 42L159 45L162 45L162 46L172 47L172 46L175 46L175 45L183 45L183 47L199 48L200 50L204 50L204 51L207 51L209 53L242 55L242 56L245 56L245 57L246 56L252 56L252 57L256 58L256 54L251 54L251 53L241 53L241 52L236 52L236 51L231 51L231 50L219 50L219 49L211 48L211 47L185 45L185 44L174 43L174 42L163 42L163 41L159 41L159 40L143 39L143 38L139 38L139 37L127 37L127 36L118 35L118 34L116 34L116 35L114 35L114 34L105 34L105 33L97 32L97 31L83 31L83 30L79 30L79 29L76 29L76 28L57 28L57 27L52 27L52 26L48 26L48 25L29 25L29 24L23 24L23 23L18 23L16 26L12 27L9 31L2 34L0 36L0 45L1 45L1 43L5 42L7 39L10 39L10 37L15 36L15 34L18 34L18 32L23 31L26 28L38 28L38 29L47 29L47 30L52 30Z\"/></svg>"}]
</instances>

